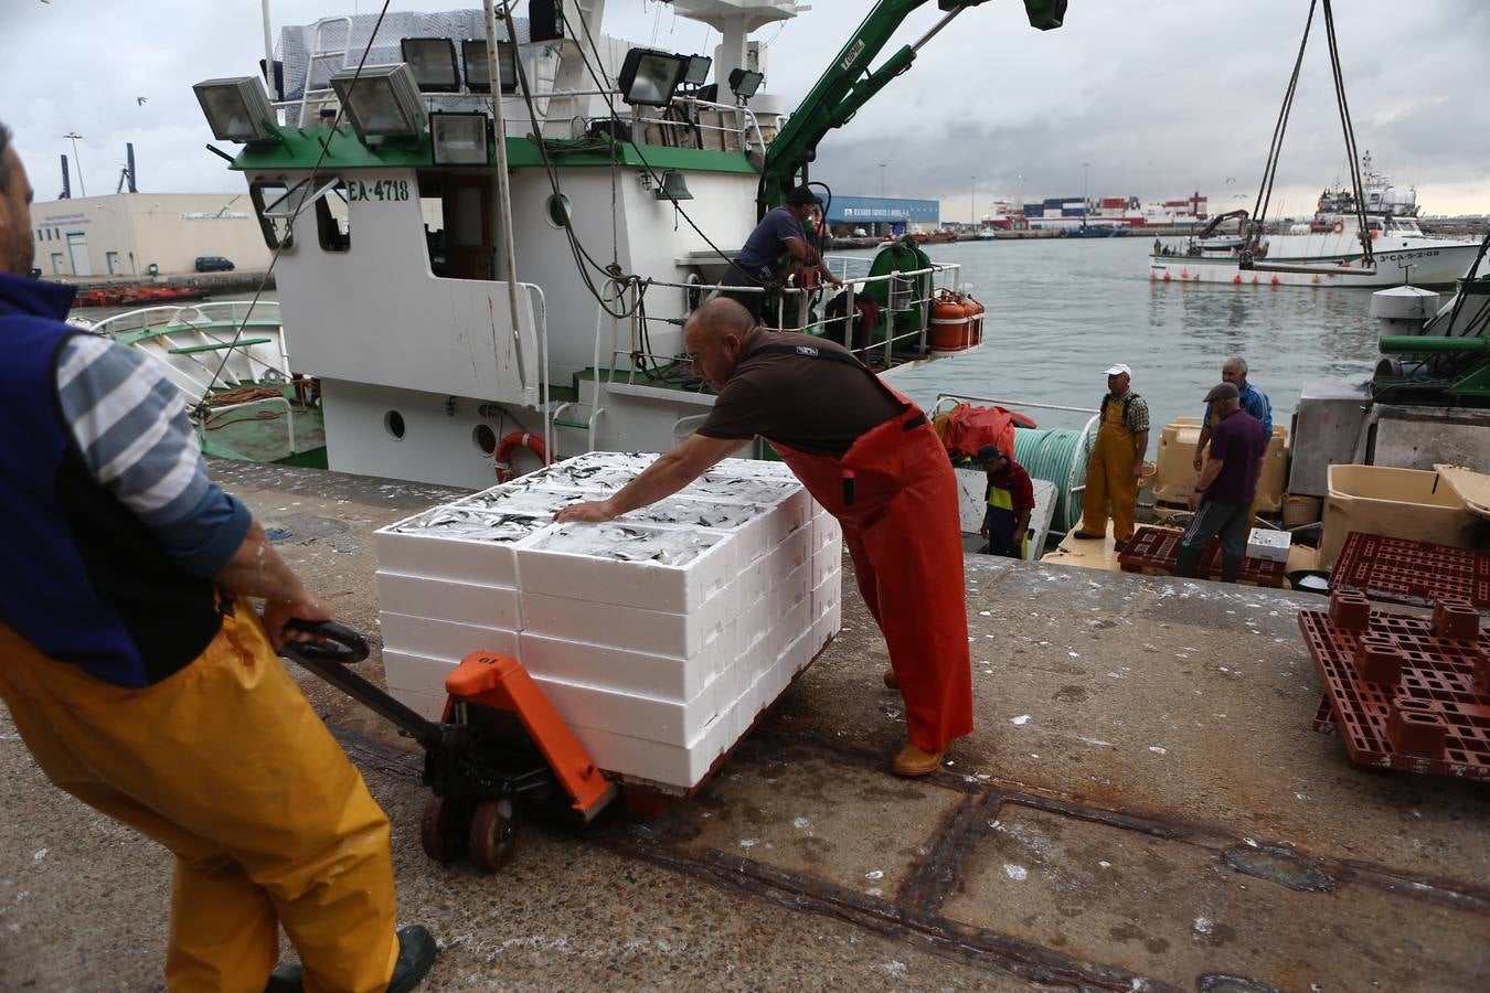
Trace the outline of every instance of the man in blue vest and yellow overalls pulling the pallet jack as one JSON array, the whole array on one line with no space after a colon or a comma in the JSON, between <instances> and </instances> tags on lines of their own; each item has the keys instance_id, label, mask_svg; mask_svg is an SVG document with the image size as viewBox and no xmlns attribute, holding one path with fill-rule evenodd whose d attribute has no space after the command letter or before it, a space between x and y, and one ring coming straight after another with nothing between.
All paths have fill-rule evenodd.
<instances>
[{"instance_id":1,"label":"man in blue vest and yellow overalls pulling the pallet jack","mask_svg":"<svg viewBox=\"0 0 1490 993\"><path fill-rule=\"evenodd\" d=\"M0 125L0 700L49 780L176 855L170 990L410 990L389 822L276 658L331 612L207 478L164 366L30 278ZM264 598L264 616L249 597ZM279 930L302 966L276 971Z\"/></svg>"}]
</instances>

